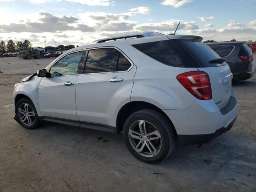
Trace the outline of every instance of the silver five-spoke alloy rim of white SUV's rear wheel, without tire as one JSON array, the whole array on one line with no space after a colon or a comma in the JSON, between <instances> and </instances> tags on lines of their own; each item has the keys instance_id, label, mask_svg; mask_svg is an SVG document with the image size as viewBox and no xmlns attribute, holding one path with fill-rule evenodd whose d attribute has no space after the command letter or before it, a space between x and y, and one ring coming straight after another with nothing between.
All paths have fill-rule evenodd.
<instances>
[{"instance_id":1,"label":"silver five-spoke alloy rim of white SUV's rear wheel, without tire","mask_svg":"<svg viewBox=\"0 0 256 192\"><path fill-rule=\"evenodd\" d=\"M129 128L132 148L145 157L156 156L162 148L162 138L157 128L148 121L138 120Z\"/></svg>"}]
</instances>

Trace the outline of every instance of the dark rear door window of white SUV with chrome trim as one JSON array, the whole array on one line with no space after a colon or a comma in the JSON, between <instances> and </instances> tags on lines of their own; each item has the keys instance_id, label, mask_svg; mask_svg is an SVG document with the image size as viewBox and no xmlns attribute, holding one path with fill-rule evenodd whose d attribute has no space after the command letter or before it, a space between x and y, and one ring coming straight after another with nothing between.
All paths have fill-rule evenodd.
<instances>
[{"instance_id":1,"label":"dark rear door window of white SUV with chrome trim","mask_svg":"<svg viewBox=\"0 0 256 192\"><path fill-rule=\"evenodd\" d=\"M84 73L126 71L130 62L114 48L89 50Z\"/></svg>"}]
</instances>

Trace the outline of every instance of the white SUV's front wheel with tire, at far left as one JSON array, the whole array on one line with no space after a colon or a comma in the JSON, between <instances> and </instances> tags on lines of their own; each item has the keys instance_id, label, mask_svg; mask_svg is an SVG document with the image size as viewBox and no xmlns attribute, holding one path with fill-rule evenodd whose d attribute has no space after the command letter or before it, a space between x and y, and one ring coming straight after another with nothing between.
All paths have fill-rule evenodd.
<instances>
[{"instance_id":1,"label":"white SUV's front wheel with tire, at far left","mask_svg":"<svg viewBox=\"0 0 256 192\"><path fill-rule=\"evenodd\" d=\"M27 106L27 107L26 107ZM20 110L22 109L22 110ZM28 110L26 110L28 109ZM28 111L29 118L24 117L26 115L26 111ZM36 108L32 101L28 98L22 98L18 100L15 105L15 114L16 120L26 129L35 129L38 128L40 124L40 120L38 118ZM34 116L33 116L34 114ZM30 120L29 120L30 119Z\"/></svg>"}]
</instances>

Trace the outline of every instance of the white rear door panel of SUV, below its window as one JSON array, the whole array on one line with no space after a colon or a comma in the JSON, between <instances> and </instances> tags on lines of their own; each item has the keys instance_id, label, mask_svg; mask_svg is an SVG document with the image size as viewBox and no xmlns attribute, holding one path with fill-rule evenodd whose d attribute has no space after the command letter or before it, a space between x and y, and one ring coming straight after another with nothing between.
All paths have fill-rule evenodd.
<instances>
[{"instance_id":1,"label":"white rear door panel of SUV, below its window","mask_svg":"<svg viewBox=\"0 0 256 192\"><path fill-rule=\"evenodd\" d=\"M130 102L136 66L128 72L81 74L76 82L77 116L82 122L116 127L116 116ZM109 82L123 78L122 82Z\"/></svg>"}]
</instances>

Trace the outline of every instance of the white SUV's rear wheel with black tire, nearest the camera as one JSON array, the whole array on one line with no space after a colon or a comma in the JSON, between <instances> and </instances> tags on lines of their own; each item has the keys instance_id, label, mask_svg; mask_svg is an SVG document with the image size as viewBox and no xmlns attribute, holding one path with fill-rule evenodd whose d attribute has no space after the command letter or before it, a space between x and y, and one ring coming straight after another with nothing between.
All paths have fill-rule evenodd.
<instances>
[{"instance_id":1,"label":"white SUV's rear wheel with black tire, nearest the camera","mask_svg":"<svg viewBox=\"0 0 256 192\"><path fill-rule=\"evenodd\" d=\"M145 122L146 124L145 135L140 134L139 131L140 129L138 124L142 122ZM142 126L142 128L143 127L144 126ZM139 134L132 134L130 130ZM158 133L150 135L154 130L158 131ZM159 134L160 138L158 138ZM131 135L133 137L138 136L138 138L135 139ZM176 145L174 127L169 123L165 116L155 110L140 110L130 115L124 123L123 136L124 142L130 153L138 160L150 164L165 160L172 153ZM142 143L144 144L143 147ZM157 150L153 150L152 145L154 145ZM137 150L143 150L141 152L137 152L135 150L136 146L139 146ZM151 148L151 152L148 146Z\"/></svg>"}]
</instances>

